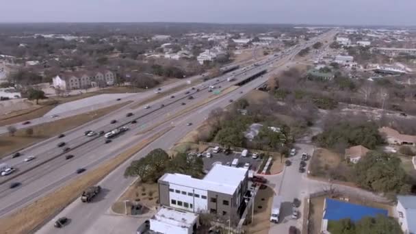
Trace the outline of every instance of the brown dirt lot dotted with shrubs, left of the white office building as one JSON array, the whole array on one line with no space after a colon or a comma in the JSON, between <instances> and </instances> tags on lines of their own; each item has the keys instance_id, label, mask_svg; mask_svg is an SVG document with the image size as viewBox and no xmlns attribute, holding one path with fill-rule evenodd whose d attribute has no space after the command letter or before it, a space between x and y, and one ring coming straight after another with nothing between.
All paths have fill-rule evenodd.
<instances>
[{"instance_id":1,"label":"brown dirt lot dotted with shrubs, left of the white office building","mask_svg":"<svg viewBox=\"0 0 416 234\"><path fill-rule=\"evenodd\" d=\"M126 213L125 201L133 201L143 205L147 209L156 209L158 196L157 183L142 183L140 180L135 181L133 185L127 188L126 192L118 198L116 203L112 205L112 210L115 213ZM127 214L131 210L132 203L127 203Z\"/></svg>"}]
</instances>

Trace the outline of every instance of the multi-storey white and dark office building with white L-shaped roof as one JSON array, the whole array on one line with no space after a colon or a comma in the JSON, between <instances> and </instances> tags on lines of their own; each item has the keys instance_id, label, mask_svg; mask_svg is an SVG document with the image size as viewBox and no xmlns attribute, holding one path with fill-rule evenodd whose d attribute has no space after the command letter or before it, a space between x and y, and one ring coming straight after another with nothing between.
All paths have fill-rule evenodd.
<instances>
[{"instance_id":1,"label":"multi-storey white and dark office building with white L-shaped roof","mask_svg":"<svg viewBox=\"0 0 416 234\"><path fill-rule=\"evenodd\" d=\"M248 170L216 164L203 179L166 173L158 183L160 205L193 213L209 212L237 224L245 207Z\"/></svg>"}]
</instances>

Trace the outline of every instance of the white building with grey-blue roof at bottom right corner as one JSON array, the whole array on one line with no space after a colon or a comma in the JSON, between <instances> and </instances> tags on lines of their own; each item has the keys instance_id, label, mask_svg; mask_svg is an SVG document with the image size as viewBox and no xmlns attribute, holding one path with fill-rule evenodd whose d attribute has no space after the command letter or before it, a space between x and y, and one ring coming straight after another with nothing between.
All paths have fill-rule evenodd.
<instances>
[{"instance_id":1,"label":"white building with grey-blue roof at bottom right corner","mask_svg":"<svg viewBox=\"0 0 416 234\"><path fill-rule=\"evenodd\" d=\"M395 216L404 234L416 234L416 196L398 196Z\"/></svg>"}]
</instances>

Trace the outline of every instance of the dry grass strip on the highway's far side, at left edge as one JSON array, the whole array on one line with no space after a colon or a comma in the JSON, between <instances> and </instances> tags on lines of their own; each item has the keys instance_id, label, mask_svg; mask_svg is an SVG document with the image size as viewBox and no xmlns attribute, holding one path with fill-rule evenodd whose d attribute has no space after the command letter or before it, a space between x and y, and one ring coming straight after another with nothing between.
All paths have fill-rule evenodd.
<instances>
[{"instance_id":1,"label":"dry grass strip on the highway's far side, at left edge","mask_svg":"<svg viewBox=\"0 0 416 234\"><path fill-rule=\"evenodd\" d=\"M106 114L113 112L116 109L120 109L128 103L131 103L131 101L112 105L102 109L97 109L93 112L87 112L77 116L62 118L53 122L47 122L41 125L30 127L34 130L34 134L31 136L27 135L26 129L19 129L16 131L14 136L10 136L8 134L0 135L0 158L13 153L14 151L26 148L31 144L46 140L55 135L63 133L64 131L68 131L74 127L83 125L86 122L90 122L91 120L105 116Z\"/></svg>"}]
</instances>

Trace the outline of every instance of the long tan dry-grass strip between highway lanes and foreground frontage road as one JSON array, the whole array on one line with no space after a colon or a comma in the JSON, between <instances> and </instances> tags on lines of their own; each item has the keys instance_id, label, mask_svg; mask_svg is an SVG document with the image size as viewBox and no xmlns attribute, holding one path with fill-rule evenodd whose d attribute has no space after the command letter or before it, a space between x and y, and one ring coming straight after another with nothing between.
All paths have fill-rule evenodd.
<instances>
[{"instance_id":1,"label":"long tan dry-grass strip between highway lanes and foreground frontage road","mask_svg":"<svg viewBox=\"0 0 416 234\"><path fill-rule=\"evenodd\" d=\"M143 140L139 144L127 149L127 151L120 153L114 159L110 159L101 164L98 168L87 172L77 179L73 179L65 186L57 189L42 198L39 198L34 203L19 209L18 211L5 216L0 219L0 233L16 234L16 233L30 233L39 228L46 220L53 218L57 212L64 209L67 205L73 202L81 191L86 190L87 187L95 185L101 181L109 172L112 172L123 162L133 156L145 146L155 141L164 133L170 131L172 128L165 129L155 133L151 138Z\"/></svg>"}]
</instances>

